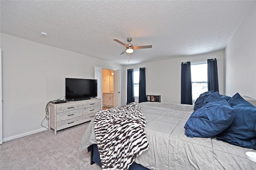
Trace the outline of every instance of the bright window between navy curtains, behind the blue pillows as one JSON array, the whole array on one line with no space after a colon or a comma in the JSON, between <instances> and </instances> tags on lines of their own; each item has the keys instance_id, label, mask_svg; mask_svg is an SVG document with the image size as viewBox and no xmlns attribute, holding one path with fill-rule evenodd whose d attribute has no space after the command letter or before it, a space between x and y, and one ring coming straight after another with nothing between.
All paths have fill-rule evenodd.
<instances>
[{"instance_id":1,"label":"bright window between navy curtains, behind the blue pillows","mask_svg":"<svg viewBox=\"0 0 256 170\"><path fill-rule=\"evenodd\" d=\"M192 101L208 91L207 62L191 64Z\"/></svg>"}]
</instances>

